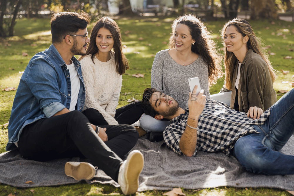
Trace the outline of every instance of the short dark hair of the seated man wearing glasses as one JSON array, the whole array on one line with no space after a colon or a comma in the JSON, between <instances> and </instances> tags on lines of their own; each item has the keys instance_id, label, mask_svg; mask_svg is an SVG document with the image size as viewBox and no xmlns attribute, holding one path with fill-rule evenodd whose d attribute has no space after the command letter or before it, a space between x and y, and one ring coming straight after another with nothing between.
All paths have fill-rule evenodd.
<instances>
[{"instance_id":1,"label":"short dark hair of the seated man wearing glasses","mask_svg":"<svg viewBox=\"0 0 294 196\"><path fill-rule=\"evenodd\" d=\"M52 43L60 43L64 36L74 34L79 29L85 29L91 21L91 16L81 11L59 12L51 17Z\"/></svg>"}]
</instances>

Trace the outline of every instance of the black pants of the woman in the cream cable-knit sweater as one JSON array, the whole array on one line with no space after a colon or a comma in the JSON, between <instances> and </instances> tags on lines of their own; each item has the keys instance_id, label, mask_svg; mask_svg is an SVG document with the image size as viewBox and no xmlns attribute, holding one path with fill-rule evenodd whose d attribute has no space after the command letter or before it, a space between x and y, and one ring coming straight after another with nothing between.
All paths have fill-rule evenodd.
<instances>
[{"instance_id":1,"label":"black pants of the woman in the cream cable-knit sweater","mask_svg":"<svg viewBox=\"0 0 294 196\"><path fill-rule=\"evenodd\" d=\"M93 124L99 122L100 125L108 125L103 115L96 109L87 109L83 113ZM95 115L91 115L93 113ZM139 120L142 114L141 101L137 101L116 109L114 118L118 124L133 124Z\"/></svg>"}]
</instances>

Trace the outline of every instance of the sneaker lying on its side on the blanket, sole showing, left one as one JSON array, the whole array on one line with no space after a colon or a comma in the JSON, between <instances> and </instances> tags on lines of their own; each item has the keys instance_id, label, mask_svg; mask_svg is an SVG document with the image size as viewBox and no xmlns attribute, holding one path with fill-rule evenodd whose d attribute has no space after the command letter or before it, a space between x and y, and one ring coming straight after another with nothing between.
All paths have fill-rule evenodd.
<instances>
[{"instance_id":1,"label":"sneaker lying on its side on the blanket, sole showing, left one","mask_svg":"<svg viewBox=\"0 0 294 196\"><path fill-rule=\"evenodd\" d=\"M66 162L64 172L76 180L91 180L96 174L95 167L90 163L73 161Z\"/></svg>"}]
</instances>

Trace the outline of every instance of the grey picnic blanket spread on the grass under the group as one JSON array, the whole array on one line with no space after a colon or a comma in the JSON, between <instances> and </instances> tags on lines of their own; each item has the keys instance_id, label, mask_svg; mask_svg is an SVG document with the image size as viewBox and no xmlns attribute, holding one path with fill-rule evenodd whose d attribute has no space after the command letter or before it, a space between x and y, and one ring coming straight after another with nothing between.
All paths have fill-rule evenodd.
<instances>
[{"instance_id":1,"label":"grey picnic blanket spread on the grass under the group","mask_svg":"<svg viewBox=\"0 0 294 196\"><path fill-rule=\"evenodd\" d=\"M198 151L196 157L179 156L169 150L165 143L150 142L140 138L133 148L140 150L145 166L140 176L138 191L170 190L172 187L200 189L219 186L269 187L294 190L294 175L266 176L247 172L233 156L222 152L206 153ZM294 137L281 150L286 155L294 155ZM0 182L15 187L38 187L79 183L64 174L67 161L86 161L78 157L56 159L48 162L25 160L18 151L0 154ZM32 181L33 184L25 182ZM99 182L119 185L103 171L87 183Z\"/></svg>"}]
</instances>

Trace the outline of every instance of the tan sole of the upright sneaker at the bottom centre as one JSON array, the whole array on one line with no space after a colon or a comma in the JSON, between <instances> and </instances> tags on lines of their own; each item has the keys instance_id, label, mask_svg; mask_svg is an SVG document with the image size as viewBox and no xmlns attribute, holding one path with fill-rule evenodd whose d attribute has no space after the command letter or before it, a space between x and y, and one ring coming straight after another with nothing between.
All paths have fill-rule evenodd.
<instances>
[{"instance_id":1,"label":"tan sole of the upright sneaker at the bottom centre","mask_svg":"<svg viewBox=\"0 0 294 196\"><path fill-rule=\"evenodd\" d=\"M140 151L132 152L127 158L126 165L126 192L125 195L136 193L139 187L139 176L144 167L144 157Z\"/></svg>"}]
</instances>

